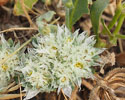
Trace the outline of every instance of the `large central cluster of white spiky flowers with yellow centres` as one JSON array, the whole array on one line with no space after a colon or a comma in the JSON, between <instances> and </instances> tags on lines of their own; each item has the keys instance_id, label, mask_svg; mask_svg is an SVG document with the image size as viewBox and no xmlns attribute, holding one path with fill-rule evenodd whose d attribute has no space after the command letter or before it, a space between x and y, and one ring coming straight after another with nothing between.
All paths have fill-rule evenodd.
<instances>
[{"instance_id":1,"label":"large central cluster of white spiky flowers with yellow centres","mask_svg":"<svg viewBox=\"0 0 125 100\"><path fill-rule=\"evenodd\" d=\"M39 92L63 89L70 97L72 89L80 87L82 78L93 78L92 66L99 66L99 54L104 49L94 47L94 36L77 30L71 33L58 26L57 32L42 34L33 41L22 61L22 81L25 90Z\"/></svg>"}]
</instances>

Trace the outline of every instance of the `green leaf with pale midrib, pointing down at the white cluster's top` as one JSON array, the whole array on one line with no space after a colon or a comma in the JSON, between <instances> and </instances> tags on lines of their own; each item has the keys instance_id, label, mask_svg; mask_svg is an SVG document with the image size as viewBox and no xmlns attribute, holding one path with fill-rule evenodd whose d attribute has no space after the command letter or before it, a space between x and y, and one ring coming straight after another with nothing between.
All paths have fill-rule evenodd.
<instances>
[{"instance_id":1,"label":"green leaf with pale midrib, pointing down at the white cluster's top","mask_svg":"<svg viewBox=\"0 0 125 100\"><path fill-rule=\"evenodd\" d=\"M73 8L66 8L66 26L72 26L83 15L89 13L88 0L73 0Z\"/></svg>"}]
</instances>

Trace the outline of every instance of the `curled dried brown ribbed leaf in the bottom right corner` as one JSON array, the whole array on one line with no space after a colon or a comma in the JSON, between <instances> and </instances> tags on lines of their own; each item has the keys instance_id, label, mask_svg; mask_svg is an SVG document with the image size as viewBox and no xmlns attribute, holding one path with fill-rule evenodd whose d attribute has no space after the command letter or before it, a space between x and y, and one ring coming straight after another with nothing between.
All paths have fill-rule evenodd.
<instances>
[{"instance_id":1,"label":"curled dried brown ribbed leaf in the bottom right corner","mask_svg":"<svg viewBox=\"0 0 125 100\"><path fill-rule=\"evenodd\" d=\"M125 100L125 68L110 71L104 79L96 77L89 100ZM123 99L124 98L124 99Z\"/></svg>"}]
</instances>

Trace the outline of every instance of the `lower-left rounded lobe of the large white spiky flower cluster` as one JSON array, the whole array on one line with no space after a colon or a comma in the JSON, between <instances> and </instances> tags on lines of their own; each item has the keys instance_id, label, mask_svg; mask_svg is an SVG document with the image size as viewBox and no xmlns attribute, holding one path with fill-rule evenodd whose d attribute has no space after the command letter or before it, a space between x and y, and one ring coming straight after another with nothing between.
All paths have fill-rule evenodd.
<instances>
[{"instance_id":1,"label":"lower-left rounded lobe of the large white spiky flower cluster","mask_svg":"<svg viewBox=\"0 0 125 100\"><path fill-rule=\"evenodd\" d=\"M49 69L44 61L36 55L33 50L28 50L28 54L22 57L21 72L23 73L22 85L25 91L40 90L51 91ZM50 87L50 88L49 88Z\"/></svg>"}]
</instances>

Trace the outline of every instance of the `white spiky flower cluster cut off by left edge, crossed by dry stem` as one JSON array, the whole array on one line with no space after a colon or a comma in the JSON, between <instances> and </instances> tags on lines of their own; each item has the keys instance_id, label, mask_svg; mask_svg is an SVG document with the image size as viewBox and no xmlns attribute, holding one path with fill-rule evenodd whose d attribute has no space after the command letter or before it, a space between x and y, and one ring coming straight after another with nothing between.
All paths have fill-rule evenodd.
<instances>
[{"instance_id":1,"label":"white spiky flower cluster cut off by left edge, crossed by dry stem","mask_svg":"<svg viewBox=\"0 0 125 100\"><path fill-rule=\"evenodd\" d=\"M12 40L10 42L4 39L3 35L0 35L0 61L2 61L9 54L13 53L19 48L19 43L14 45ZM9 58L6 62L0 63L0 89L7 86L11 78L14 77L14 70L19 67L19 55L16 54Z\"/></svg>"}]
</instances>

